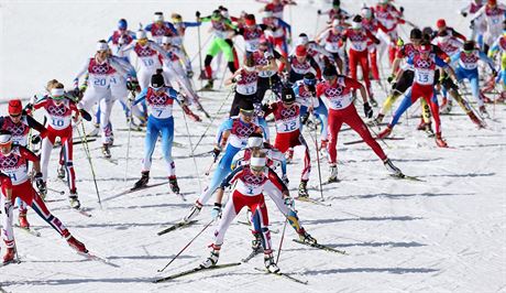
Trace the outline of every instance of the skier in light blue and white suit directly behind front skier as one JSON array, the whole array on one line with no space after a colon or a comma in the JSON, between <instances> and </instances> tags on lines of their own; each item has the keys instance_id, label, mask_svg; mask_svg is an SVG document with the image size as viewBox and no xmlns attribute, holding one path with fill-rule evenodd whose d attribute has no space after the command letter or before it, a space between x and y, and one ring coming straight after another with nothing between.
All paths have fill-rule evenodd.
<instances>
[{"instance_id":1,"label":"skier in light blue and white suit directly behind front skier","mask_svg":"<svg viewBox=\"0 0 506 293\"><path fill-rule=\"evenodd\" d=\"M209 185L195 202L188 215L185 216L185 221L189 221L198 216L200 209L202 209L202 205L209 200L221 181L230 173L233 156L246 145L248 138L253 132L263 133L264 138L266 138L266 129L263 129L257 123L253 105L242 101L239 116L227 118L218 129L212 150L213 162L218 161L222 150L224 150L224 154L220 159Z\"/></svg>"}]
</instances>

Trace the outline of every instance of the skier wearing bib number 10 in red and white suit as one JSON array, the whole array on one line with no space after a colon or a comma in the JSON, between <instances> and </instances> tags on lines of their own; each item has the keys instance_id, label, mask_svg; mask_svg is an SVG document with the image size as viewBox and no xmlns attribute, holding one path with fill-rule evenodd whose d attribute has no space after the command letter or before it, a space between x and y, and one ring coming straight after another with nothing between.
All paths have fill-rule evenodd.
<instances>
[{"instance_id":1,"label":"skier wearing bib number 10 in red and white suit","mask_svg":"<svg viewBox=\"0 0 506 293\"><path fill-rule=\"evenodd\" d=\"M38 189L45 196L46 193L46 181L47 181L47 165L50 164L51 151L55 144L56 138L59 138L62 143L62 151L64 152L64 162L65 170L67 172L67 184L70 191L68 200L70 202L70 207L75 209L80 208L80 202L77 197L77 187L76 187L76 173L74 170L74 145L73 145L73 126L80 122L79 117L86 117L90 120L89 113L85 110L79 110L77 105L66 98L64 91L64 85L57 84L53 89L51 89L51 95L45 96L44 98L37 100L33 105L33 109L37 110L44 108L46 111L47 121L47 135L42 140L42 150L41 150L41 164L42 164L42 183L44 187ZM74 115L74 118L73 118Z\"/></svg>"}]
</instances>

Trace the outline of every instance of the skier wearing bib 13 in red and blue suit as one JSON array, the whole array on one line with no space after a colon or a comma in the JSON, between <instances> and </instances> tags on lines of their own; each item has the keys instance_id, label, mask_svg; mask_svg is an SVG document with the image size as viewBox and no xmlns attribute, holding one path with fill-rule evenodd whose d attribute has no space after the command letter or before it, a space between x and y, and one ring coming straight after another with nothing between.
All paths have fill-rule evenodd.
<instances>
[{"instance_id":1,"label":"skier wearing bib 13 in red and blue suit","mask_svg":"<svg viewBox=\"0 0 506 293\"><path fill-rule=\"evenodd\" d=\"M453 79L457 79L453 69L448 65L448 63L446 63L432 53L432 46L429 42L422 42L418 51L419 54L415 54L407 61L407 64L413 66L414 68L414 83L411 86L411 90L405 96L399 107L395 111L394 117L392 118L387 128L378 134L378 138L383 139L388 137L392 133L394 126L399 120L400 116L409 108L409 106L411 106L413 102L415 102L418 98L424 98L427 101L427 104L430 105L432 117L435 118L436 144L440 148L447 148L448 144L441 135L439 107L433 89L435 72L436 67L443 68L447 73L449 73L452 76ZM397 74L397 82L399 77L403 75L403 72L404 70L400 69Z\"/></svg>"}]
</instances>

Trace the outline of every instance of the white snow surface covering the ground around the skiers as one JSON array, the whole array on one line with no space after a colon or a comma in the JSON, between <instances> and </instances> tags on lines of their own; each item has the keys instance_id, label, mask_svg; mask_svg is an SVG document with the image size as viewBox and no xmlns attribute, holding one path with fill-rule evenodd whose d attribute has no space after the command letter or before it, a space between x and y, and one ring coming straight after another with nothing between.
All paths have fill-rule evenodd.
<instances>
[{"instance_id":1,"label":"white snow surface covering the ground around the skiers","mask_svg":"<svg viewBox=\"0 0 506 293\"><path fill-rule=\"evenodd\" d=\"M361 1L342 1L350 11L358 11ZM370 1L372 2L372 1ZM444 17L451 25L466 31L465 21L457 10L466 1L402 1L406 15L419 25L433 24ZM165 14L177 11L191 20L196 9L210 12L224 4L231 14L242 9L256 11L253 1L0 1L0 97L29 97L41 90L46 80L58 78L70 85L82 61L92 54L95 42L116 28L119 18L127 18L132 29L138 22L147 23L154 11ZM296 34L307 28L315 30L316 10L321 3L302 2L293 8ZM288 19L288 11L285 13ZM311 17L309 17L311 15ZM323 25L320 18L319 28ZM408 31L408 28L405 28ZM188 29L187 48L197 52L196 31ZM202 30L202 41L207 29ZM198 61L194 63L198 66ZM384 68L386 65L384 65ZM376 88L376 96L385 94ZM228 89L204 94L202 104L212 115L224 117L228 105L218 111ZM231 99L229 99L229 102ZM132 186L140 176L143 156L143 134L132 132L128 178L125 154L128 132L116 131L112 155L118 165L100 156L98 142L90 143L102 206L97 204L91 171L81 145L75 146L77 186L81 203L91 208L91 218L69 210L64 196L50 193L50 208L70 231L94 253L119 265L114 268L77 256L65 241L34 213L29 219L40 229L35 238L19 230L16 243L21 264L1 268L1 286L10 292L506 292L506 213L505 213L505 126L504 105L490 106L495 120L490 128L477 131L465 116L443 116L443 134L455 149L438 149L431 139L415 131L418 106L410 118L395 129L403 141L387 141L385 151L406 174L426 182L391 178L374 153L363 144L343 145L358 139L351 131L340 134L339 184L324 186L326 203L331 207L297 203L300 219L319 242L345 250L349 256L307 248L290 241L296 235L287 227L279 267L283 271L309 281L297 284L253 268L262 268L257 257L237 268L205 272L177 281L153 284L164 276L197 265L208 256L206 246L212 239L207 229L164 273L164 267L208 223L206 207L199 223L190 228L158 237L156 232L175 224L190 208L200 192L199 181L206 185L205 169L210 156L197 158L197 166L189 156L186 128L176 110L176 142L173 149L183 194L187 202L168 192L163 185L117 196ZM375 109L377 110L377 109ZM2 110L4 112L6 110ZM454 108L454 113L462 113ZM196 153L212 148L218 118ZM113 111L116 128L124 128L120 107ZM195 143L209 120L190 123L190 139ZM90 127L90 126L87 126ZM274 133L274 130L272 130ZM77 135L77 134L76 134ZM310 141L308 132L305 137ZM160 148L160 146L158 146ZM312 145L311 145L312 148ZM315 156L315 152L312 151ZM56 180L56 151L50 166L50 187L65 189ZM318 172L312 158L311 197ZM296 154L289 167L290 188L296 193L300 172L300 156ZM198 170L198 176L197 176ZM164 161L155 151L151 183L166 180ZM322 162L322 175L328 170ZM212 203L212 202L211 202ZM272 228L283 230L284 219L267 200ZM245 214L239 216L245 219ZM278 247L280 234L273 234ZM248 256L252 237L248 227L233 224L226 237L221 263L234 262Z\"/></svg>"}]
</instances>

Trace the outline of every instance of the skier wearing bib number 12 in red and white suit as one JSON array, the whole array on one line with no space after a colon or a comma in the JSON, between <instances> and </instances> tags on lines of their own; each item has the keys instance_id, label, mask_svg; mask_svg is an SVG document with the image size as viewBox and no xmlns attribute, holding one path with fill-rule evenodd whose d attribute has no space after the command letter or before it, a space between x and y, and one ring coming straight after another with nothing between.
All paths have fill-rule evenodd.
<instances>
[{"instance_id":1,"label":"skier wearing bib number 12 in red and white suit","mask_svg":"<svg viewBox=\"0 0 506 293\"><path fill-rule=\"evenodd\" d=\"M300 106L295 102L296 96L294 90L285 87L282 90L282 100L272 102L265 110L265 117L273 113L276 126L276 139L274 148L282 153L286 153L289 148L304 148L304 169L300 175L298 188L299 197L309 197L307 184L311 172L311 158L309 148L300 133Z\"/></svg>"}]
</instances>

